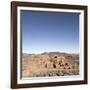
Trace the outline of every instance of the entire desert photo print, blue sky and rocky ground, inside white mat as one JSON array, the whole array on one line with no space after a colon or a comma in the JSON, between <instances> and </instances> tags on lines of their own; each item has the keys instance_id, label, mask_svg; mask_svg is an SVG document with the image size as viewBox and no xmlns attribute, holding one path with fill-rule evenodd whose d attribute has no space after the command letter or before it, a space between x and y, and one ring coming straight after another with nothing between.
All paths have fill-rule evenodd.
<instances>
[{"instance_id":1,"label":"entire desert photo print, blue sky and rocky ground, inside white mat","mask_svg":"<svg viewBox=\"0 0 90 90\"><path fill-rule=\"evenodd\" d=\"M79 13L22 10L21 77L79 75Z\"/></svg>"}]
</instances>

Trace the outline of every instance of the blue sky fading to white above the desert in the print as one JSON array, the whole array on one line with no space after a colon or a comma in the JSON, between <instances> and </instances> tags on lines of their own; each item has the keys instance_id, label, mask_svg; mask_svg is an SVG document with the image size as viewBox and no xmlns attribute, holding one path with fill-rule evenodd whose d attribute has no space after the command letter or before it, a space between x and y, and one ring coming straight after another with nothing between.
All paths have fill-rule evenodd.
<instances>
[{"instance_id":1,"label":"blue sky fading to white above the desert in the print","mask_svg":"<svg viewBox=\"0 0 90 90\"><path fill-rule=\"evenodd\" d=\"M21 11L22 52L79 53L79 13Z\"/></svg>"}]
</instances>

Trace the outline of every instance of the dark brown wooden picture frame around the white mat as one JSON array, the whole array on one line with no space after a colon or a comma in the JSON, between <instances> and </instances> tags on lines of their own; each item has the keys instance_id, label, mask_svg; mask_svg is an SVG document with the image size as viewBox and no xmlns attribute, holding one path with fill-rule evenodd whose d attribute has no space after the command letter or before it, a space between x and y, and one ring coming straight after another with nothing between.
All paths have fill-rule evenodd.
<instances>
[{"instance_id":1,"label":"dark brown wooden picture frame around the white mat","mask_svg":"<svg viewBox=\"0 0 90 90\"><path fill-rule=\"evenodd\" d=\"M33 7L46 9L70 9L81 10L84 12L84 79L77 81L59 81L59 82L40 82L40 83L18 83L18 7ZM21 32L20 32L21 33ZM21 43L21 39L20 39ZM21 45L21 44L20 44ZM87 6L83 5L67 5L67 4L50 4L50 3L32 3L32 2L11 2L11 88L30 88L30 87L44 87L44 86L64 86L64 85L79 85L87 84ZM20 51L21 52L21 51Z\"/></svg>"}]
</instances>

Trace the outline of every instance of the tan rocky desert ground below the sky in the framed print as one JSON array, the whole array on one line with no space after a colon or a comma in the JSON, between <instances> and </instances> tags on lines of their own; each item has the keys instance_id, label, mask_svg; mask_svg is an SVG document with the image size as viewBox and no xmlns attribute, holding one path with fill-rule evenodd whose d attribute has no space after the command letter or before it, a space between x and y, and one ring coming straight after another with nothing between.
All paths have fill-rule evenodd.
<instances>
[{"instance_id":1,"label":"tan rocky desert ground below the sky in the framed print","mask_svg":"<svg viewBox=\"0 0 90 90\"><path fill-rule=\"evenodd\" d=\"M44 52L22 54L22 77L79 75L79 54Z\"/></svg>"}]
</instances>

